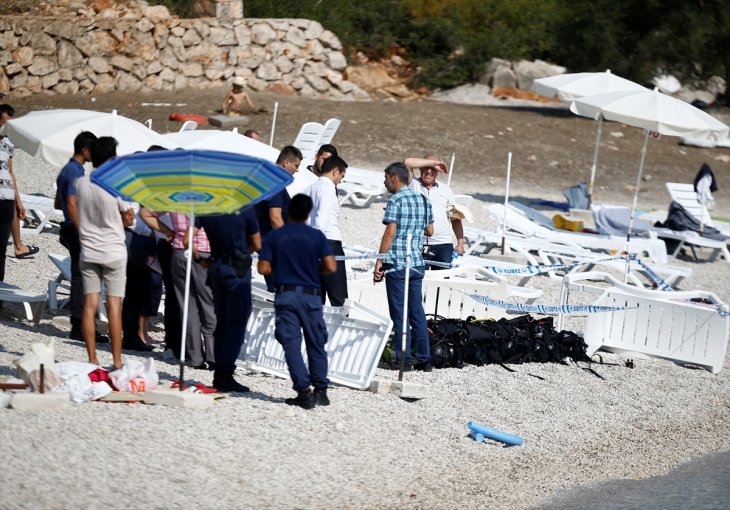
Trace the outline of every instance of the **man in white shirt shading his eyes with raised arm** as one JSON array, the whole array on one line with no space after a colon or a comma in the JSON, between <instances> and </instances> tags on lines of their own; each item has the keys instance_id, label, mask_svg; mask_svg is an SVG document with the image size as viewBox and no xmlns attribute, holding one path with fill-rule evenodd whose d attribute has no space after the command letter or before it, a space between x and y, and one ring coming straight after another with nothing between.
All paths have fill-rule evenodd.
<instances>
[{"instance_id":1,"label":"man in white shirt shading his eyes with raised arm","mask_svg":"<svg viewBox=\"0 0 730 510\"><path fill-rule=\"evenodd\" d=\"M411 177L416 169L420 170L419 178L412 178L408 187L427 197L433 210L433 236L426 238L423 246L426 267L429 269L446 269L442 266L430 266L429 260L451 263L452 254L456 251L464 254L464 229L461 220L449 217L448 206L454 203L454 192L443 183L436 182L439 172L446 173L446 163L434 155L425 158L408 158L404 161ZM453 243L456 235L456 246Z\"/></svg>"}]
</instances>

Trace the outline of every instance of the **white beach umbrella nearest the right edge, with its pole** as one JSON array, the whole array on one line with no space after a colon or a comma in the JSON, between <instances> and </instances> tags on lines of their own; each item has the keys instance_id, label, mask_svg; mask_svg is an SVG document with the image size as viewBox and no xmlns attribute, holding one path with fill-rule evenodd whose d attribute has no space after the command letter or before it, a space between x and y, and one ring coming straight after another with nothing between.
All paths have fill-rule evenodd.
<instances>
[{"instance_id":1,"label":"white beach umbrella nearest the right edge, with its pole","mask_svg":"<svg viewBox=\"0 0 730 510\"><path fill-rule=\"evenodd\" d=\"M728 126L699 108L695 108L691 104L672 96L662 94L657 89L653 91L609 92L584 97L573 101L570 110L584 117L596 120L615 120L644 129L644 145L641 149L639 174L636 177L636 189L626 233L627 244L631 240L631 229L633 228L636 202L639 197L641 176L644 172L644 159L649 136L703 136L721 139L727 136L730 131Z\"/></svg>"}]
</instances>

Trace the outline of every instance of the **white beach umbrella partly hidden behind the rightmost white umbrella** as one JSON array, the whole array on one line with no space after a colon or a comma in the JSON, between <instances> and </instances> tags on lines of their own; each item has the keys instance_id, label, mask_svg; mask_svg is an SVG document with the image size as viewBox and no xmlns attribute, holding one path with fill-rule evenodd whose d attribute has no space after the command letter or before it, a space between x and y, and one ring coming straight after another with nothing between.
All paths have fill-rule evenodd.
<instances>
[{"instance_id":1,"label":"white beach umbrella partly hidden behind the rightmost white umbrella","mask_svg":"<svg viewBox=\"0 0 730 510\"><path fill-rule=\"evenodd\" d=\"M532 82L532 89L545 97L557 96L561 101L574 101L586 96L607 94L609 92L645 91L648 90L638 83L621 78L606 69L602 73L571 73L548 76ZM603 121L598 119L596 128L596 144L593 148L593 163L591 164L591 178L588 183L588 205L593 198L593 183L596 180L598 165L598 148L601 143L601 129Z\"/></svg>"}]
</instances>

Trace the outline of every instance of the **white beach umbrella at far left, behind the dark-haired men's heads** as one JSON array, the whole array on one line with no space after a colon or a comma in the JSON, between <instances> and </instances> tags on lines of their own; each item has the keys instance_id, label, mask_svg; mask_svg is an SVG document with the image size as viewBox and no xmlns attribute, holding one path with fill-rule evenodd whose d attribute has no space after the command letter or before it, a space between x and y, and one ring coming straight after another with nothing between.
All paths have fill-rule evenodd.
<instances>
[{"instance_id":1,"label":"white beach umbrella at far left, behind the dark-haired men's heads","mask_svg":"<svg viewBox=\"0 0 730 510\"><path fill-rule=\"evenodd\" d=\"M73 142L82 131L96 136L113 136L119 142L117 154L146 151L163 145L161 135L141 122L117 114L93 110L37 110L10 119L3 134L31 156L39 156L55 166L65 165L73 156Z\"/></svg>"}]
</instances>

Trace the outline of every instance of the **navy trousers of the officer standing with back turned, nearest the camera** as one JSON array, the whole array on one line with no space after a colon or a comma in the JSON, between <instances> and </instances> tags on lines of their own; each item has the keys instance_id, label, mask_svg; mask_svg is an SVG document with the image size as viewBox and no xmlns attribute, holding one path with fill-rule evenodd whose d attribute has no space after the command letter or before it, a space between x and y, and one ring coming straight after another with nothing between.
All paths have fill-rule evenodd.
<instances>
[{"instance_id":1,"label":"navy trousers of the officer standing with back turned, nearest the camera","mask_svg":"<svg viewBox=\"0 0 730 510\"><path fill-rule=\"evenodd\" d=\"M276 330L274 336L284 348L284 358L295 391L310 386L326 388L327 326L322 311L322 298L297 291L277 292L274 299ZM309 370L302 357L302 331L307 349Z\"/></svg>"}]
</instances>

